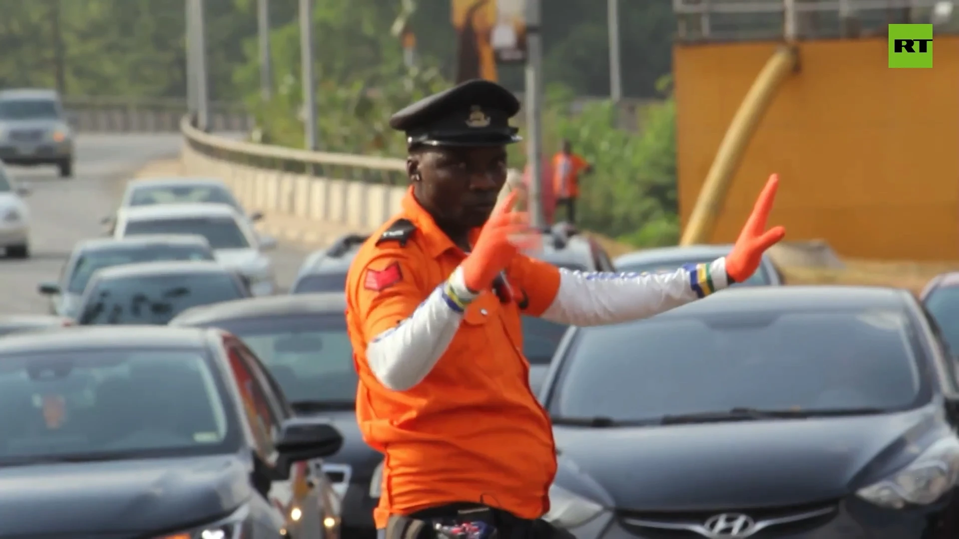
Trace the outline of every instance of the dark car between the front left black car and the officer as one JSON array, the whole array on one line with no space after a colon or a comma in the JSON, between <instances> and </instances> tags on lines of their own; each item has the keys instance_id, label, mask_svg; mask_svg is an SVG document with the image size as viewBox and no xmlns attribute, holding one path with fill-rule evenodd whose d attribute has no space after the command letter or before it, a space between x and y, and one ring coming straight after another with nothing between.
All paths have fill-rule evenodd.
<instances>
[{"instance_id":1,"label":"dark car between the front left black car and the officer","mask_svg":"<svg viewBox=\"0 0 959 539\"><path fill-rule=\"evenodd\" d=\"M215 327L243 340L266 365L292 409L328 417L343 446L325 457L319 472L342 499L346 539L376 537L369 480L383 456L363 442L356 418L359 379L346 334L342 292L274 295L188 309L171 326Z\"/></svg>"}]
</instances>

